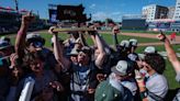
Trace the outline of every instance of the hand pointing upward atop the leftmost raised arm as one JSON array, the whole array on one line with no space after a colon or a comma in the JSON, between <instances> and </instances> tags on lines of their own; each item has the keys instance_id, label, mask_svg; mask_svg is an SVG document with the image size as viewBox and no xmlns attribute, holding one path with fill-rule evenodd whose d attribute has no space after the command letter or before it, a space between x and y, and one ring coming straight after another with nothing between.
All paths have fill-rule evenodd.
<instances>
[{"instance_id":1,"label":"hand pointing upward atop the leftmost raised arm","mask_svg":"<svg viewBox=\"0 0 180 101\"><path fill-rule=\"evenodd\" d=\"M29 25L35 18L32 15L32 11L22 16L22 24Z\"/></svg>"}]
</instances>

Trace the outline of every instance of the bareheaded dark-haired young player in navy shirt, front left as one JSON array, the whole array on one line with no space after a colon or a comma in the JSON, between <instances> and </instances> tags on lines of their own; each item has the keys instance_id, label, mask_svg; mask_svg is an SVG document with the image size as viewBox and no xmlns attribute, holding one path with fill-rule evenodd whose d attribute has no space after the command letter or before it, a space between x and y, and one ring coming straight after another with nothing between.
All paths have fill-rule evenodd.
<instances>
[{"instance_id":1,"label":"bareheaded dark-haired young player in navy shirt, front left","mask_svg":"<svg viewBox=\"0 0 180 101\"><path fill-rule=\"evenodd\" d=\"M54 75L52 70L45 70L44 69L44 58L40 53L31 54L30 56L29 66L32 70L31 74L26 75L25 77L32 77L35 80L34 89L31 96L31 99L36 98L40 96L42 91L44 91L47 87L55 88L57 91L63 90L64 88L57 81L57 77ZM23 88L22 85L24 85L24 80L26 78L22 79L18 86L18 90L21 91ZM52 98L55 99L55 93L52 93Z\"/></svg>"}]
</instances>

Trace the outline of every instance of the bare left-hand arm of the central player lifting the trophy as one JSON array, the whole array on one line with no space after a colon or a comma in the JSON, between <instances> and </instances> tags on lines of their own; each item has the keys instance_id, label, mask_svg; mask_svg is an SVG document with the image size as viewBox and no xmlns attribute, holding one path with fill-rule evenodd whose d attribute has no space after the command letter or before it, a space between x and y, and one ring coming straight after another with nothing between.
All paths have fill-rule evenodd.
<instances>
[{"instance_id":1,"label":"bare left-hand arm of the central player lifting the trophy","mask_svg":"<svg viewBox=\"0 0 180 101\"><path fill-rule=\"evenodd\" d=\"M53 41L54 41L54 54L57 63L63 67L63 69L68 69L70 67L70 60L64 57L63 55L63 46L58 42L58 36L56 32L53 32L55 26L52 26L48 30L48 33L53 34Z\"/></svg>"}]
</instances>

